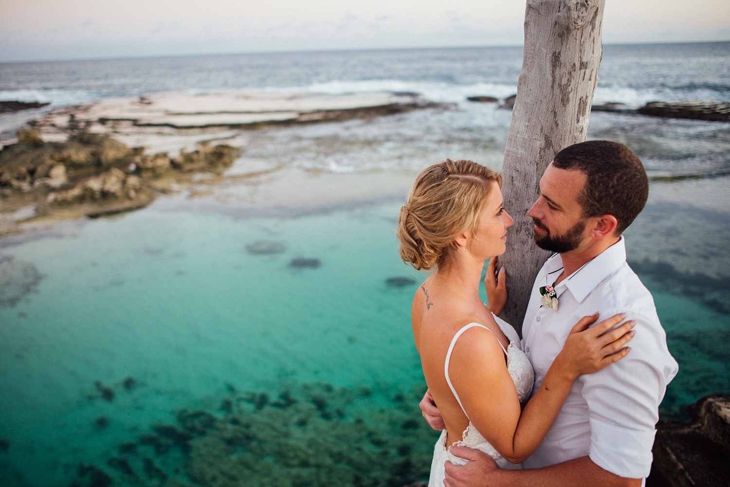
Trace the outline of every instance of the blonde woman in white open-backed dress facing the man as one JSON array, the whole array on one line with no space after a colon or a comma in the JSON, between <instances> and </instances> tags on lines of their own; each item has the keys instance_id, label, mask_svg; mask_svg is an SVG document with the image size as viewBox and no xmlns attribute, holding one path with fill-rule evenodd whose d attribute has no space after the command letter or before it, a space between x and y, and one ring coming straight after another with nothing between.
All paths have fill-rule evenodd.
<instances>
[{"instance_id":1,"label":"blonde woman in white open-backed dress facing the man","mask_svg":"<svg viewBox=\"0 0 730 487\"><path fill-rule=\"evenodd\" d=\"M578 375L596 372L629 352L623 345L631 340L634 322L611 330L625 318L615 315L589 328L598 315L586 316L572 328L539 391L524 404L532 390L532 367L516 331L496 316L507 292L504 267L496 274L496 256L504 253L513 223L502 207L501 187L499 173L447 159L418 175L401 208L401 258L415 269L435 269L416 291L411 309L423 375L445 423L429 486L442 487L445 461L466 463L447 450L454 444L482 450L500 468L521 468L548 433ZM489 307L479 297L487 259Z\"/></svg>"}]
</instances>

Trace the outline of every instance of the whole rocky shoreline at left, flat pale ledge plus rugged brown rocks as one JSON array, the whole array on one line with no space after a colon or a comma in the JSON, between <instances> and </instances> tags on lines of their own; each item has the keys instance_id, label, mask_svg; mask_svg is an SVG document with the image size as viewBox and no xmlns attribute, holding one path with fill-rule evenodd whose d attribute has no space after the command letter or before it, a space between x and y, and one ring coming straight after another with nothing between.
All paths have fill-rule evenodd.
<instances>
[{"instance_id":1,"label":"whole rocky shoreline at left, flat pale ledge plus rugged brown rocks","mask_svg":"<svg viewBox=\"0 0 730 487\"><path fill-rule=\"evenodd\" d=\"M51 110L0 150L0 236L136 210L220 177L240 154L222 142L242 130L439 106L415 93L157 93Z\"/></svg>"}]
</instances>

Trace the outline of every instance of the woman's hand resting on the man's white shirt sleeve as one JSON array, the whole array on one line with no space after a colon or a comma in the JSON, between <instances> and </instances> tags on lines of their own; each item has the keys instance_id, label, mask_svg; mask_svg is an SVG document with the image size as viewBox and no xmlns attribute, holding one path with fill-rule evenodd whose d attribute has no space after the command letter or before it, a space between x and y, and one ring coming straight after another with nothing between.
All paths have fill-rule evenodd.
<instances>
[{"instance_id":1,"label":"woman's hand resting on the man's white shirt sleeve","mask_svg":"<svg viewBox=\"0 0 730 487\"><path fill-rule=\"evenodd\" d=\"M588 328L598 319L598 313L584 316L570 330L563 350L558 353L556 362L561 369L575 380L578 375L591 374L625 357L631 347L624 347L634 337L636 321L626 321L612 329L626 318L626 313L613 315L595 326ZM610 331L609 331L610 330Z\"/></svg>"}]
</instances>

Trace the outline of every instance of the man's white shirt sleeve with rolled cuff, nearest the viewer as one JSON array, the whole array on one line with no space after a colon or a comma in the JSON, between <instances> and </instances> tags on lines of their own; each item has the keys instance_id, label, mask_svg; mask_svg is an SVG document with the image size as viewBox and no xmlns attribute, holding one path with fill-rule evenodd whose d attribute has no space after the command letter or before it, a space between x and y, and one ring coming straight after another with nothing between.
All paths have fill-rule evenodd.
<instances>
[{"instance_id":1,"label":"man's white shirt sleeve with rolled cuff, nearest the viewer","mask_svg":"<svg viewBox=\"0 0 730 487\"><path fill-rule=\"evenodd\" d=\"M669 355L658 320L635 314L627 319L637 320L629 354L578 380L588 405L591 460L621 477L645 478L651 468L659 403L677 374L677 362Z\"/></svg>"}]
</instances>

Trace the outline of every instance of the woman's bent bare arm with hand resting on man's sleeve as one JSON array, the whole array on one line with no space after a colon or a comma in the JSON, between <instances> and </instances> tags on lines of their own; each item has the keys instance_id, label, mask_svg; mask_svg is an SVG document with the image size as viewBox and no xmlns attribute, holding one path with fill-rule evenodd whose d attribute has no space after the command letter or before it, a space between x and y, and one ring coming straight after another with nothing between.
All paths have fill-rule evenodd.
<instances>
[{"instance_id":1,"label":"woman's bent bare arm with hand resting on man's sleeve","mask_svg":"<svg viewBox=\"0 0 730 487\"><path fill-rule=\"evenodd\" d=\"M596 372L620 360L629 348L629 321L615 315L592 328L598 315L586 316L571 330L561 353L548 370L539 390L523 410L504 353L496 337L475 327L469 340L459 340L449 373L469 419L488 442L512 463L520 463L539 445L557 417L573 382L580 374ZM476 332L475 332L476 331Z\"/></svg>"}]
</instances>

